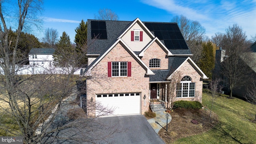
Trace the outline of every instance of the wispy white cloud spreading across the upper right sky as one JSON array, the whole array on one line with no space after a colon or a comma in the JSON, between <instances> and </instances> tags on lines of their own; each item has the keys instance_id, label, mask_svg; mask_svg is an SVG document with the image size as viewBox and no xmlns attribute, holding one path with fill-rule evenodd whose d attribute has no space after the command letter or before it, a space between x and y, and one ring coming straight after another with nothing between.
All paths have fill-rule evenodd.
<instances>
[{"instance_id":1,"label":"wispy white cloud spreading across the upper right sky","mask_svg":"<svg viewBox=\"0 0 256 144\"><path fill-rule=\"evenodd\" d=\"M171 15L184 15L197 20L206 28L206 35L225 32L234 23L242 26L248 36L256 34L256 0L194 2L180 0L142 0L143 3L166 10Z\"/></svg>"}]
</instances>

